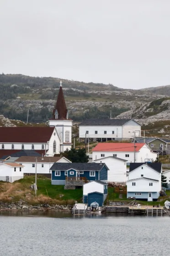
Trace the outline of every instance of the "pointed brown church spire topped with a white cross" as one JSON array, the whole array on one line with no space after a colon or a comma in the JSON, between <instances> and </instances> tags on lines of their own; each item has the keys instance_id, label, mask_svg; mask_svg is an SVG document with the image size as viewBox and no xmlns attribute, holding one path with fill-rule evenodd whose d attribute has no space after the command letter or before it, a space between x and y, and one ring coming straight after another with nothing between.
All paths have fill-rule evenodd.
<instances>
[{"instance_id":1,"label":"pointed brown church spire topped with a white cross","mask_svg":"<svg viewBox=\"0 0 170 256\"><path fill-rule=\"evenodd\" d=\"M53 119L56 120L67 120L69 119L68 110L64 100L62 81L60 81L60 88L58 92L57 102L53 110Z\"/></svg>"}]
</instances>

